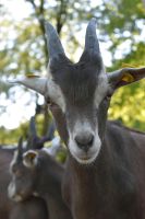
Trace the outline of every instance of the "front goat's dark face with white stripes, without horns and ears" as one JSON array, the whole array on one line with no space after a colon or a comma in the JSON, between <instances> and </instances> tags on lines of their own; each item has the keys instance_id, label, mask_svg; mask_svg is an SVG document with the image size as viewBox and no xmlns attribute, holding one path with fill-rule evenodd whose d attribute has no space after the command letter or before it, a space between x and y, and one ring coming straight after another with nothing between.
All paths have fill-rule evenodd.
<instances>
[{"instance_id":1,"label":"front goat's dark face with white stripes, without horns and ears","mask_svg":"<svg viewBox=\"0 0 145 219\"><path fill-rule=\"evenodd\" d=\"M49 99L52 105L57 104L62 111L69 150L80 163L90 163L100 150L100 130L108 108L108 81L104 68L95 60L65 64L63 68L53 60L48 74ZM104 114L99 119L102 108Z\"/></svg>"}]
</instances>

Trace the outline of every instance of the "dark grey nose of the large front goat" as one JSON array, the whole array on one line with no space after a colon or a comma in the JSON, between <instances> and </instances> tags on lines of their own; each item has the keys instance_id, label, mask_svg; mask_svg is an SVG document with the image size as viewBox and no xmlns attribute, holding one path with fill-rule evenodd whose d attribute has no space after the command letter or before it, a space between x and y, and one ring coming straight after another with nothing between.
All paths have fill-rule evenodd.
<instances>
[{"instance_id":1,"label":"dark grey nose of the large front goat","mask_svg":"<svg viewBox=\"0 0 145 219\"><path fill-rule=\"evenodd\" d=\"M93 146L94 135L93 134L76 135L75 141L81 149L87 151Z\"/></svg>"}]
</instances>

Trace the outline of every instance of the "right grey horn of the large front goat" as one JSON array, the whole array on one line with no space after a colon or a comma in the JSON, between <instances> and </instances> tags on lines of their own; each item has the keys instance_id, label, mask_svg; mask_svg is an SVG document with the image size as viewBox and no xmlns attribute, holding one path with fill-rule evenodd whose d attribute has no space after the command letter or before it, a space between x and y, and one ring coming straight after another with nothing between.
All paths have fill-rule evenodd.
<instances>
[{"instance_id":1,"label":"right grey horn of the large front goat","mask_svg":"<svg viewBox=\"0 0 145 219\"><path fill-rule=\"evenodd\" d=\"M96 19L93 18L86 28L85 50L89 53L100 54L99 43L96 35Z\"/></svg>"}]
</instances>

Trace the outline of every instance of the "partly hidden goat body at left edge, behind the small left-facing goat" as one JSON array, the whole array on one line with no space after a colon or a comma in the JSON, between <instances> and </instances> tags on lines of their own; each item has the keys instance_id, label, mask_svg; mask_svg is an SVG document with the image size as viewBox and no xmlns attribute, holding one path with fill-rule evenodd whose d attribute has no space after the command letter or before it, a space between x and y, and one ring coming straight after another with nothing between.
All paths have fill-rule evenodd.
<instances>
[{"instance_id":1,"label":"partly hidden goat body at left edge, behind the small left-facing goat","mask_svg":"<svg viewBox=\"0 0 145 219\"><path fill-rule=\"evenodd\" d=\"M0 148L0 219L47 219L47 207L41 198L29 197L17 204L8 198L7 188L11 181L9 165L14 151Z\"/></svg>"}]
</instances>

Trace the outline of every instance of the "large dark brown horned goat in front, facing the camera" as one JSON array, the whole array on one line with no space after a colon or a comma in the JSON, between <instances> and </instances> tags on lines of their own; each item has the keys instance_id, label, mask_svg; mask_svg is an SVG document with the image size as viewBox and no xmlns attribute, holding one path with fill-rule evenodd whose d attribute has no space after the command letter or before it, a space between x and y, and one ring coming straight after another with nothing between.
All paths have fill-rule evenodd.
<instances>
[{"instance_id":1,"label":"large dark brown horned goat in front, facing the camera","mask_svg":"<svg viewBox=\"0 0 145 219\"><path fill-rule=\"evenodd\" d=\"M63 196L74 219L145 218L145 134L107 120L117 89L145 78L145 68L106 73L96 35L88 23L77 64L65 56L59 36L46 24L47 77L15 79L45 96L69 159ZM136 140L137 139L137 140Z\"/></svg>"}]
</instances>

